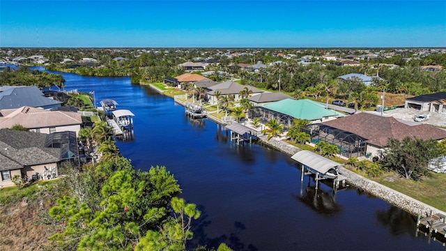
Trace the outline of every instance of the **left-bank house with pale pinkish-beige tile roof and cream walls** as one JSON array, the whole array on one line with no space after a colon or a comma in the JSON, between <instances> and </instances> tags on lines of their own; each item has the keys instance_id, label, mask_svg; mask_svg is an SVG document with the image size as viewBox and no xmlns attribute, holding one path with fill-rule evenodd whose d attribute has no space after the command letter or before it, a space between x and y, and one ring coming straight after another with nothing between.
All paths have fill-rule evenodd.
<instances>
[{"instance_id":1,"label":"left-bank house with pale pinkish-beige tile roof and cream walls","mask_svg":"<svg viewBox=\"0 0 446 251\"><path fill-rule=\"evenodd\" d=\"M82 116L77 112L50 111L35 107L0 109L0 128L24 126L31 132L72 131L78 135L82 126Z\"/></svg>"}]
</instances>

